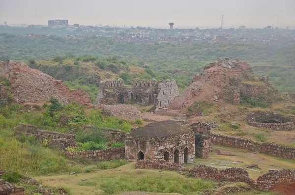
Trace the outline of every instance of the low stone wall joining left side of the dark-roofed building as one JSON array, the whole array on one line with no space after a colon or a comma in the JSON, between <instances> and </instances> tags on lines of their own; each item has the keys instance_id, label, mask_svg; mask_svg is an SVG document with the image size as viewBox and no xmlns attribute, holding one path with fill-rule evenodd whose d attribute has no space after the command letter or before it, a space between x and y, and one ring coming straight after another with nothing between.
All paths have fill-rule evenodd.
<instances>
[{"instance_id":1,"label":"low stone wall joining left side of the dark-roofed building","mask_svg":"<svg viewBox=\"0 0 295 195\"><path fill-rule=\"evenodd\" d=\"M94 161L121 159L125 157L125 147L110 148L105 150L65 152L65 157L68 159L77 159L77 158L92 159Z\"/></svg>"}]
</instances>

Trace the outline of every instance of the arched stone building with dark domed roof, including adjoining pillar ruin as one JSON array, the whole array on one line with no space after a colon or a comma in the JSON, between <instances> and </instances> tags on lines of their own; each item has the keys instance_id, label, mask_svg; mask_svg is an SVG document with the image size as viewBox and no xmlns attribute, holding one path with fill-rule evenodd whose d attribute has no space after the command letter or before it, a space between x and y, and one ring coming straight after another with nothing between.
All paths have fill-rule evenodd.
<instances>
[{"instance_id":1,"label":"arched stone building with dark domed roof, including adjoining pillar ruin","mask_svg":"<svg viewBox=\"0 0 295 195\"><path fill-rule=\"evenodd\" d=\"M155 122L126 135L125 158L129 161L164 159L177 164L192 163L195 154L208 158L209 139L200 135L196 138L191 128L172 121Z\"/></svg>"}]
</instances>

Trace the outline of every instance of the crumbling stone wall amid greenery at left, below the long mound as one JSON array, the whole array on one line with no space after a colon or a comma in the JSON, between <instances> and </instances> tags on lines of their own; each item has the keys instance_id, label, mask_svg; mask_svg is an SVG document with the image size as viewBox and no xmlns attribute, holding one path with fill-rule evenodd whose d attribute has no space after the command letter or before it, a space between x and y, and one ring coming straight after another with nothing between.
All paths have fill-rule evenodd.
<instances>
[{"instance_id":1,"label":"crumbling stone wall amid greenery at left, below the long mound","mask_svg":"<svg viewBox=\"0 0 295 195\"><path fill-rule=\"evenodd\" d=\"M76 146L76 136L73 134L62 134L57 132L38 129L34 125L20 124L14 128L14 134L17 136L33 136L40 141L47 139L49 147L65 150L67 147Z\"/></svg>"}]
</instances>

